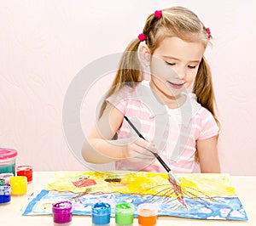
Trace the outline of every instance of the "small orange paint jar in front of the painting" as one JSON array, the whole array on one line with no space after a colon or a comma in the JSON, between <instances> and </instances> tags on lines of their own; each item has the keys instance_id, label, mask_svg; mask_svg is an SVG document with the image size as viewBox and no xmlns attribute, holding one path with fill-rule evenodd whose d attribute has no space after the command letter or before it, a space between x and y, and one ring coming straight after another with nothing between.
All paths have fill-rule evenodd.
<instances>
[{"instance_id":1,"label":"small orange paint jar in front of the painting","mask_svg":"<svg viewBox=\"0 0 256 226\"><path fill-rule=\"evenodd\" d=\"M154 226L157 221L158 206L154 203L143 203L137 206L137 218L140 226Z\"/></svg>"}]
</instances>

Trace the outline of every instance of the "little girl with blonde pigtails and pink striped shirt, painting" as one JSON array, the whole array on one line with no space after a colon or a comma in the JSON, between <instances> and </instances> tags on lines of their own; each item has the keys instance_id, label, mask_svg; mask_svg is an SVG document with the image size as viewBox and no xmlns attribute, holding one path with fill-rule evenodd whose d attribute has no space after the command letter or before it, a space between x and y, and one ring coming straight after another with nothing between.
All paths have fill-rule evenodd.
<instances>
[{"instance_id":1,"label":"little girl with blonde pigtails and pink striped shirt, painting","mask_svg":"<svg viewBox=\"0 0 256 226\"><path fill-rule=\"evenodd\" d=\"M187 8L150 14L120 60L96 127L84 141L84 160L165 172L152 154L157 152L172 172L193 172L195 162L201 172L220 172L218 120L204 57L211 38Z\"/></svg>"}]
</instances>

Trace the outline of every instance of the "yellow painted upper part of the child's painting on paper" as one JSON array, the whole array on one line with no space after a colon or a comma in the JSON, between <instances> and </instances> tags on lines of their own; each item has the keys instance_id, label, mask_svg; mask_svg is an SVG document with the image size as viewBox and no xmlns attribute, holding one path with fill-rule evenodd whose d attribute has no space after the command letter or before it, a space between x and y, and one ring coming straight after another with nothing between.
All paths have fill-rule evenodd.
<instances>
[{"instance_id":1,"label":"yellow painted upper part of the child's painting on paper","mask_svg":"<svg viewBox=\"0 0 256 226\"><path fill-rule=\"evenodd\" d=\"M184 195L206 196L236 196L235 189L230 185L229 174L214 173L183 173L176 174L181 182ZM73 182L90 179L95 185L78 188ZM105 179L120 179L119 182L109 183ZM171 189L167 173L161 172L57 172L49 181L46 189L59 191L84 192L90 189L90 193L133 193L168 195ZM191 195L193 194L193 195ZM171 195L171 193L170 193ZM173 195L173 194L172 194Z\"/></svg>"}]
</instances>

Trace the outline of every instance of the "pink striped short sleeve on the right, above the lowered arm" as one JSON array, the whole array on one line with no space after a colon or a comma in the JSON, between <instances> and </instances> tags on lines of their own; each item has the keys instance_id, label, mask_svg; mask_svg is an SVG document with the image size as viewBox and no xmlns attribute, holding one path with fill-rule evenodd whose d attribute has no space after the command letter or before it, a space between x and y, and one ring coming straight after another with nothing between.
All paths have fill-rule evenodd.
<instances>
[{"instance_id":1,"label":"pink striped short sleeve on the right, above the lowered arm","mask_svg":"<svg viewBox=\"0 0 256 226\"><path fill-rule=\"evenodd\" d=\"M219 133L219 127L212 113L205 109L201 109L201 131L198 139L212 138Z\"/></svg>"}]
</instances>

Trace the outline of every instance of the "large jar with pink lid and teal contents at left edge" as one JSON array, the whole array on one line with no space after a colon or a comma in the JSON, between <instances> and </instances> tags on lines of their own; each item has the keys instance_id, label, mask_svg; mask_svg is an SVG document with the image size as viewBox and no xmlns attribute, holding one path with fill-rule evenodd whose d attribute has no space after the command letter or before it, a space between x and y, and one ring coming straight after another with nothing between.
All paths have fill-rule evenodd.
<instances>
[{"instance_id":1,"label":"large jar with pink lid and teal contents at left edge","mask_svg":"<svg viewBox=\"0 0 256 226\"><path fill-rule=\"evenodd\" d=\"M17 150L0 148L0 173L11 172L15 175L17 155Z\"/></svg>"}]
</instances>

